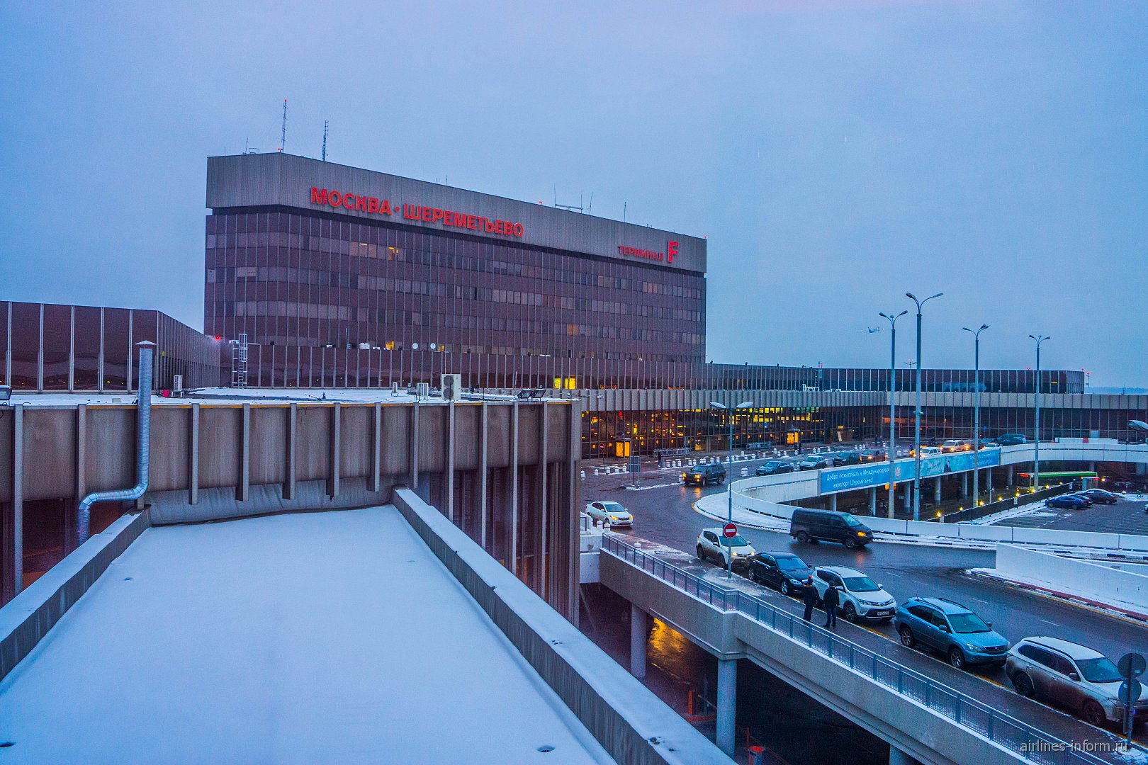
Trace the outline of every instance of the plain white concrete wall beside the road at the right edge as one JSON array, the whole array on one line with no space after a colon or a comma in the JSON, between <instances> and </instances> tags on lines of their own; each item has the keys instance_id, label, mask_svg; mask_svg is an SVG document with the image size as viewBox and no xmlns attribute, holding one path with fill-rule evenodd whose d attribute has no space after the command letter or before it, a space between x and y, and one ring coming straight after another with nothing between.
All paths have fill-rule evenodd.
<instances>
[{"instance_id":1,"label":"plain white concrete wall beside the road at the right edge","mask_svg":"<svg viewBox=\"0 0 1148 765\"><path fill-rule=\"evenodd\" d=\"M1148 614L1148 576L1013 545L996 546L996 573L1066 595Z\"/></svg>"}]
</instances>

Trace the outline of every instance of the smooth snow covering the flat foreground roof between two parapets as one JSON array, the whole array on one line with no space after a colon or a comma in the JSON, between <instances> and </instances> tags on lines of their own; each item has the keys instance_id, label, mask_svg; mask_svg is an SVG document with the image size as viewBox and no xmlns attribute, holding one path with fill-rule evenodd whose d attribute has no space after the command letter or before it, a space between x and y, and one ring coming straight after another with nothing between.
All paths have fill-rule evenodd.
<instances>
[{"instance_id":1,"label":"smooth snow covering the flat foreground roof between two parapets","mask_svg":"<svg viewBox=\"0 0 1148 765\"><path fill-rule=\"evenodd\" d=\"M0 764L612 762L393 507L149 529L0 682Z\"/></svg>"}]
</instances>

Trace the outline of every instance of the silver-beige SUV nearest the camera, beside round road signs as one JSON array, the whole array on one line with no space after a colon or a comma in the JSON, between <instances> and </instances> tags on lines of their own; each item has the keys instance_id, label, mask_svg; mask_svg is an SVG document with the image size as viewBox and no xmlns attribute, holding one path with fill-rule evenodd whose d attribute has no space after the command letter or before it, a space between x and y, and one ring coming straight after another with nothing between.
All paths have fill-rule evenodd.
<instances>
[{"instance_id":1,"label":"silver-beige SUV nearest the camera, beside round road signs","mask_svg":"<svg viewBox=\"0 0 1148 765\"><path fill-rule=\"evenodd\" d=\"M1117 701L1120 673L1103 654L1058 638L1023 638L1008 653L1004 673L1022 696L1041 696L1063 704L1086 721L1122 723ZM1135 721L1148 716L1148 684L1134 705Z\"/></svg>"}]
</instances>

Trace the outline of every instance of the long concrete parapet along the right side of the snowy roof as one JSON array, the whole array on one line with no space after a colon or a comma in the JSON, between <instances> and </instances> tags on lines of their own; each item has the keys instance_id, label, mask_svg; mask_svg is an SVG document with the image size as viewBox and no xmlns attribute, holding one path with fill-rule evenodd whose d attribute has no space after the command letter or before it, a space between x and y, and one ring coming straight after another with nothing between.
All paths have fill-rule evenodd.
<instances>
[{"instance_id":1,"label":"long concrete parapet along the right side of the snowy roof","mask_svg":"<svg viewBox=\"0 0 1148 765\"><path fill-rule=\"evenodd\" d=\"M630 677L413 492L394 504L542 679L619 763L729 765L713 743Z\"/></svg>"}]
</instances>

